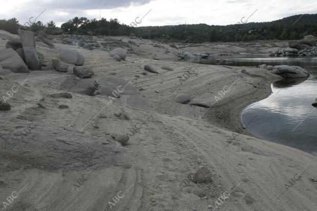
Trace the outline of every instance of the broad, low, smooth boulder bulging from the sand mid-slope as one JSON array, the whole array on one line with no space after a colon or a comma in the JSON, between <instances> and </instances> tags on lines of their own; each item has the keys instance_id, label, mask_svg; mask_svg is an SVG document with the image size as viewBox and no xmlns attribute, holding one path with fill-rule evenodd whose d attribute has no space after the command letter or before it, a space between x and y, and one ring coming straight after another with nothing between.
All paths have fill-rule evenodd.
<instances>
[{"instance_id":1,"label":"broad, low, smooth boulder bulging from the sand mid-slope","mask_svg":"<svg viewBox=\"0 0 317 211\"><path fill-rule=\"evenodd\" d=\"M135 95L139 93L139 89L135 88L135 86L131 85L131 83L120 77L102 77L97 81L97 84L98 87L99 85L104 85L113 90L119 90L121 91L120 95Z\"/></svg>"}]
</instances>

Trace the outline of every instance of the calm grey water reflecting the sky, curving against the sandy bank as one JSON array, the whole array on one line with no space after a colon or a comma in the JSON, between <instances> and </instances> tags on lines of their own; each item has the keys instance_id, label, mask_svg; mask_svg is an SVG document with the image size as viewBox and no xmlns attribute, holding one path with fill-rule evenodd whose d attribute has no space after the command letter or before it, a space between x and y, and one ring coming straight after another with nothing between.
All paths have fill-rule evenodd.
<instances>
[{"instance_id":1,"label":"calm grey water reflecting the sky, curving against the sandy bank","mask_svg":"<svg viewBox=\"0 0 317 211\"><path fill-rule=\"evenodd\" d=\"M241 60L241 61L239 61ZM283 79L271 84L273 93L244 109L242 122L256 136L317 155L317 58L238 59L238 66L298 65L310 71L306 79Z\"/></svg>"}]
</instances>

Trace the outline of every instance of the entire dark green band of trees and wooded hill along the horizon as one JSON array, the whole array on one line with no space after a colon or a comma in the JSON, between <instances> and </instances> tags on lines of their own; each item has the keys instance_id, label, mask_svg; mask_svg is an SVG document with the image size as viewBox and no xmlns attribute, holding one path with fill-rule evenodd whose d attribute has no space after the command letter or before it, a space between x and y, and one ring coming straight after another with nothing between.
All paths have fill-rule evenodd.
<instances>
[{"instance_id":1,"label":"entire dark green band of trees and wooded hill along the horizon","mask_svg":"<svg viewBox=\"0 0 317 211\"><path fill-rule=\"evenodd\" d=\"M16 18L0 20L0 29L16 34L21 25ZM46 29L48 34L57 33L54 21L46 25L34 22L28 27L37 32ZM127 36L160 41L214 42L214 41L253 41L268 39L302 39L306 35L317 36L317 14L293 15L270 22L250 22L228 26L209 26L207 24L177 25L162 27L131 27L120 24L115 19L88 19L74 17L61 25L60 33L107 36Z\"/></svg>"}]
</instances>

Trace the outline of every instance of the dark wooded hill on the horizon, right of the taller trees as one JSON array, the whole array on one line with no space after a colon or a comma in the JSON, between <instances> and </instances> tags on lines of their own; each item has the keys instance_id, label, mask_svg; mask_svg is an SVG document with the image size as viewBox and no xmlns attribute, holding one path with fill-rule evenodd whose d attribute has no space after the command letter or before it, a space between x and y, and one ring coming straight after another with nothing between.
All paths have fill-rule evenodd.
<instances>
[{"instance_id":1,"label":"dark wooded hill on the horizon, right of the taller trees","mask_svg":"<svg viewBox=\"0 0 317 211\"><path fill-rule=\"evenodd\" d=\"M132 32L142 38L181 42L301 39L306 35L317 36L317 14L293 15L270 22L250 22L228 26L194 24L138 27Z\"/></svg>"}]
</instances>

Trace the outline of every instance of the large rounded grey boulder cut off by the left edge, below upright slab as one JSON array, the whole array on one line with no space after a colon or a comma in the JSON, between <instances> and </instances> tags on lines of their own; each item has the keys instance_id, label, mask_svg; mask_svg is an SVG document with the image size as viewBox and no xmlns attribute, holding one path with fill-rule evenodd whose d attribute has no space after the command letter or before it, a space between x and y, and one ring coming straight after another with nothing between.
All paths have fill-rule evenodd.
<instances>
[{"instance_id":1,"label":"large rounded grey boulder cut off by the left edge, below upright slab","mask_svg":"<svg viewBox=\"0 0 317 211\"><path fill-rule=\"evenodd\" d=\"M0 50L0 65L14 73L30 73L27 65L13 49Z\"/></svg>"}]
</instances>

